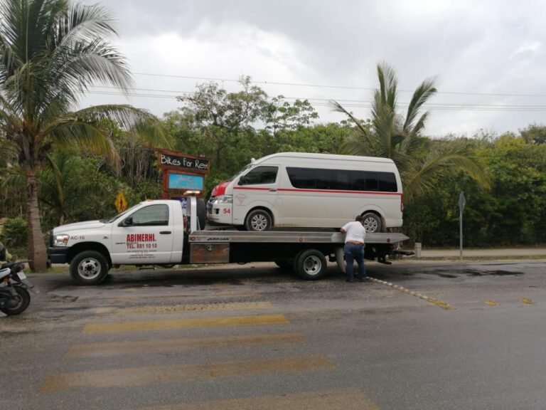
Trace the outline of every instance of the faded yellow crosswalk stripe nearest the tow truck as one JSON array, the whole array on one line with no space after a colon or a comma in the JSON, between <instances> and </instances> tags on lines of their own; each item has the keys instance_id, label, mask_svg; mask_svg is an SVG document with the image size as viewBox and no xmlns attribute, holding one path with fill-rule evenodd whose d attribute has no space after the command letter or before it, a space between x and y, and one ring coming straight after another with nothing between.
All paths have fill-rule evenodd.
<instances>
[{"instance_id":1,"label":"faded yellow crosswalk stripe nearest the tow truck","mask_svg":"<svg viewBox=\"0 0 546 410\"><path fill-rule=\"evenodd\" d=\"M154 305L138 306L137 308L117 309L114 312L116 316L125 315L146 315L146 314L164 314L164 313L182 313L182 312L210 312L225 310L250 310L250 309L270 309L270 302L241 302L241 303L196 303L189 305ZM100 309L100 308L99 308ZM104 308L102 308L104 309ZM97 313L107 313L104 310Z\"/></svg>"}]
</instances>

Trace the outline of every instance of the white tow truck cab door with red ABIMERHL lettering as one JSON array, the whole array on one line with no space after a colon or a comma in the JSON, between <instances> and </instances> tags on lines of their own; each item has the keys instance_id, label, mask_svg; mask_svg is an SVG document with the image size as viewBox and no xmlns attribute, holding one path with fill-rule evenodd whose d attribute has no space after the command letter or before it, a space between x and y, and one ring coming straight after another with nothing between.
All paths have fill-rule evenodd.
<instances>
[{"instance_id":1,"label":"white tow truck cab door with red ABIMERHL lettering","mask_svg":"<svg viewBox=\"0 0 546 410\"><path fill-rule=\"evenodd\" d=\"M173 216L167 204L137 209L112 227L112 263L169 263L173 250Z\"/></svg>"}]
</instances>

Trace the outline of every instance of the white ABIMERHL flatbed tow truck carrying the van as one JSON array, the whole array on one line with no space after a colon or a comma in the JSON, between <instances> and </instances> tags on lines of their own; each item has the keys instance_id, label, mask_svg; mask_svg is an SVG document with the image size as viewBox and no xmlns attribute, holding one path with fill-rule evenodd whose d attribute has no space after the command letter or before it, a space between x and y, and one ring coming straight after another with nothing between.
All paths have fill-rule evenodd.
<instances>
[{"instance_id":1,"label":"white ABIMERHL flatbed tow truck carrying the van","mask_svg":"<svg viewBox=\"0 0 546 410\"><path fill-rule=\"evenodd\" d=\"M330 231L205 230L205 204L189 197L185 215L181 201L144 201L109 220L54 228L48 256L51 263L70 263L70 275L82 285L96 285L108 270L121 265L165 266L272 261L316 280L326 273L326 258L344 272L344 235ZM368 233L365 258L390 263L406 241L402 233Z\"/></svg>"}]
</instances>

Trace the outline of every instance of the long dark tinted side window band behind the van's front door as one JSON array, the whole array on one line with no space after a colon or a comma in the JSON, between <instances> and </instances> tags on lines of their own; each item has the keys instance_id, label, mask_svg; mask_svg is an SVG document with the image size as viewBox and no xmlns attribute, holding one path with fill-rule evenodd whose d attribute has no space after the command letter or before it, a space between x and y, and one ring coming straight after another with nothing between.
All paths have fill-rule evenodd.
<instances>
[{"instance_id":1,"label":"long dark tinted side window band behind the van's front door","mask_svg":"<svg viewBox=\"0 0 546 410\"><path fill-rule=\"evenodd\" d=\"M294 188L397 192L392 172L287 167L287 173Z\"/></svg>"}]
</instances>

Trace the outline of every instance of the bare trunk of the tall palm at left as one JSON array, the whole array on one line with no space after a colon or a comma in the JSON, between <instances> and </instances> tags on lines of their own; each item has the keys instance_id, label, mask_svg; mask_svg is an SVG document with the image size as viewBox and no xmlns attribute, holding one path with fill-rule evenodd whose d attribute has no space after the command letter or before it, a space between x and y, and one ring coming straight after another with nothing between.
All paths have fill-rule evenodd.
<instances>
[{"instance_id":1,"label":"bare trunk of the tall palm at left","mask_svg":"<svg viewBox=\"0 0 546 410\"><path fill-rule=\"evenodd\" d=\"M36 169L32 167L26 169L26 221L28 223L28 259L31 260L28 265L33 272L45 272L48 256L40 223Z\"/></svg>"}]
</instances>

